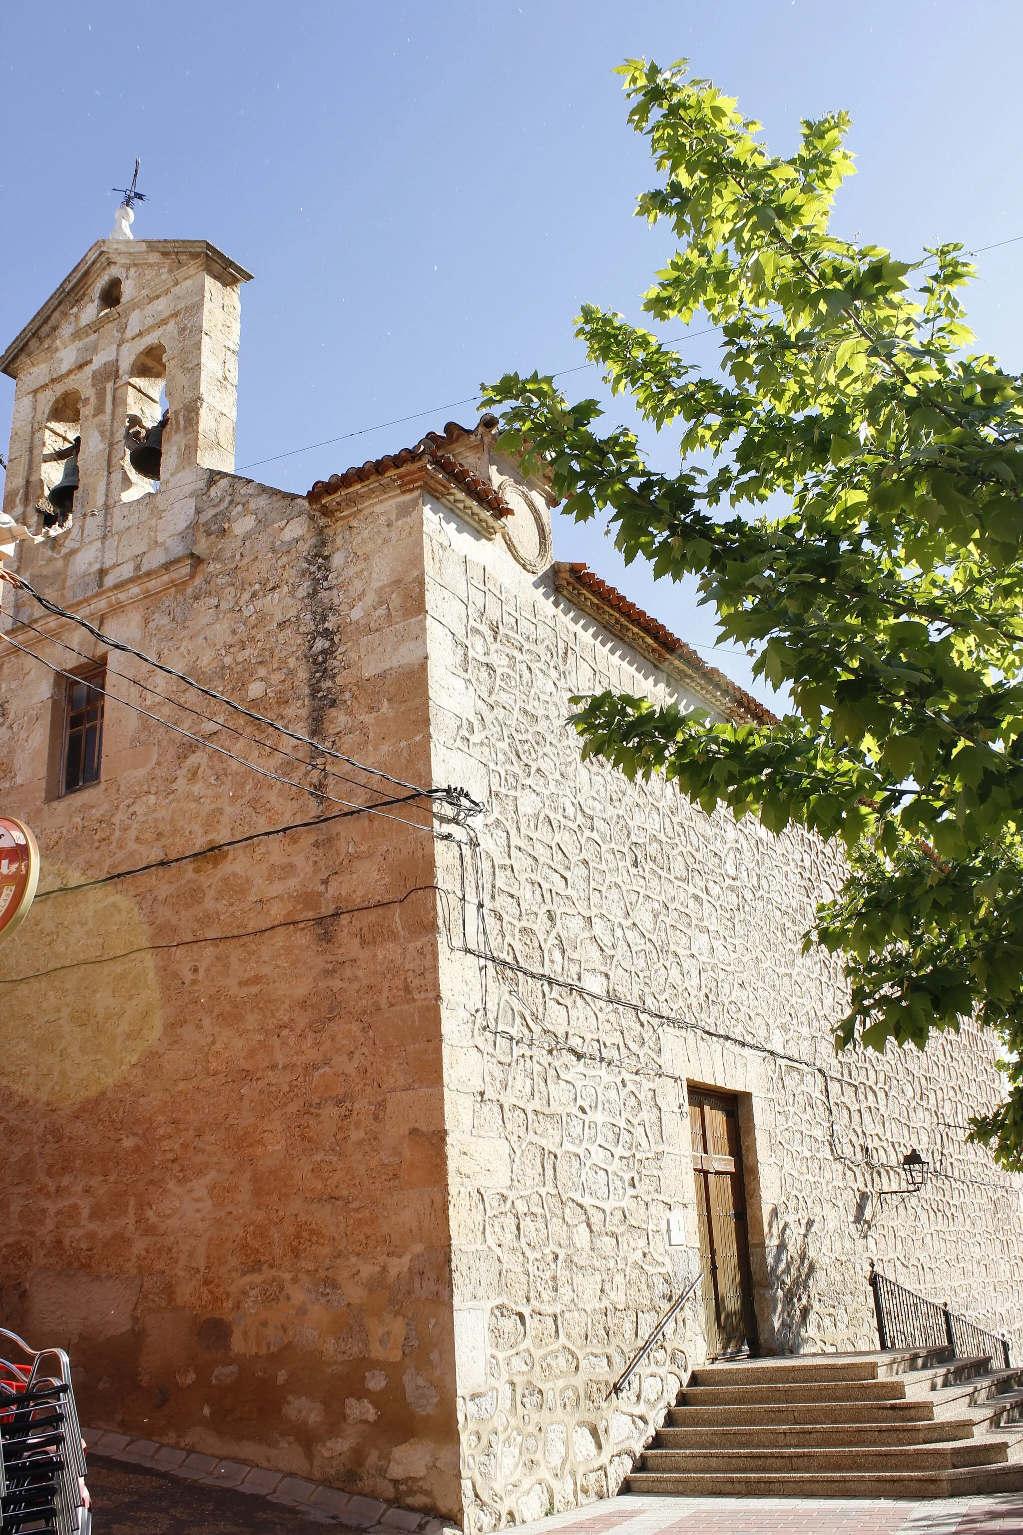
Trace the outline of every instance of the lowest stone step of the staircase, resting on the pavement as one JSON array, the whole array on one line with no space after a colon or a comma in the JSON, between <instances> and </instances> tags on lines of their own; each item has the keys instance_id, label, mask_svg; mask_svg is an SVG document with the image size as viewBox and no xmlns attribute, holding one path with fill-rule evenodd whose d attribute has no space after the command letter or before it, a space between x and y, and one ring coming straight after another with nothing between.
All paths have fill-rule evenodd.
<instances>
[{"instance_id":1,"label":"lowest stone step of the staircase, resting on the pavement","mask_svg":"<svg viewBox=\"0 0 1023 1535\"><path fill-rule=\"evenodd\" d=\"M633 1472L629 1492L670 1494L678 1498L969 1498L1023 1492L1023 1466L974 1466L933 1474L833 1472L799 1475L698 1475Z\"/></svg>"}]
</instances>

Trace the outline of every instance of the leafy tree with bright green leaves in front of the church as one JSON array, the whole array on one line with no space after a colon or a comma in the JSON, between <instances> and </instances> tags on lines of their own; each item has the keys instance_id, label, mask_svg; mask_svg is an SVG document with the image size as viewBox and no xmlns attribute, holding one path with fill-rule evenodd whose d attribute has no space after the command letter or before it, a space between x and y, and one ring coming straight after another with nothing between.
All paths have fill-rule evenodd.
<instances>
[{"instance_id":1,"label":"leafy tree with bright green leaves in front of the church","mask_svg":"<svg viewBox=\"0 0 1023 1535\"><path fill-rule=\"evenodd\" d=\"M604 692L575 700L575 728L709 812L842 838L845 886L807 935L845 956L837 1044L922 1047L966 1016L997 1030L1009 1096L972 1136L1023 1168L1021 382L971 350L962 246L906 262L831 233L845 114L804 121L779 160L684 63L621 74L658 170L638 213L678 241L643 307L702 312L721 371L618 313L578 318L613 391L681 428L678 474L551 378L506 375L486 405L572 516L609 517L626 560L698 576L791 712L722 725ZM779 493L782 516L758 510Z\"/></svg>"}]
</instances>

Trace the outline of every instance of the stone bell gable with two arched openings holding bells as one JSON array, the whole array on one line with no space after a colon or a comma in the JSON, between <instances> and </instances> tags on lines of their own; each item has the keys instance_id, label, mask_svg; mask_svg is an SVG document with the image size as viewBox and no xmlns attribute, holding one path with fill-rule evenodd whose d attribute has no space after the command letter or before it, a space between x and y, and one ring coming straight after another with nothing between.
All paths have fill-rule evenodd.
<instances>
[{"instance_id":1,"label":"stone bell gable with two arched openings holding bells","mask_svg":"<svg viewBox=\"0 0 1023 1535\"><path fill-rule=\"evenodd\" d=\"M6 348L3 510L43 534L17 545L32 583L74 600L189 551L199 473L235 468L248 278L204 239L137 241L120 218Z\"/></svg>"}]
</instances>

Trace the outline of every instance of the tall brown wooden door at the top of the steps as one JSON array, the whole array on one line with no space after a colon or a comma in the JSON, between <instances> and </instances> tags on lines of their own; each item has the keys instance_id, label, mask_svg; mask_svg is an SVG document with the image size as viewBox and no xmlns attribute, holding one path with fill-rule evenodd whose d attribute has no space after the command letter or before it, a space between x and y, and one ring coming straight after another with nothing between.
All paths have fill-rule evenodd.
<instances>
[{"instance_id":1,"label":"tall brown wooden door at the top of the steps","mask_svg":"<svg viewBox=\"0 0 1023 1535\"><path fill-rule=\"evenodd\" d=\"M742 1147L735 1098L690 1088L707 1352L756 1354Z\"/></svg>"}]
</instances>

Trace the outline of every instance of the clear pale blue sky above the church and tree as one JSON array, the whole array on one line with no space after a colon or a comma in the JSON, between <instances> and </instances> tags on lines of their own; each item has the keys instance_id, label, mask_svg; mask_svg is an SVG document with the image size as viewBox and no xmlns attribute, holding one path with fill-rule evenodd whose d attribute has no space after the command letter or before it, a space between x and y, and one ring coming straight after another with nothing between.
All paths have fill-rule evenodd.
<instances>
[{"instance_id":1,"label":"clear pale blue sky above the church and tree","mask_svg":"<svg viewBox=\"0 0 1023 1535\"><path fill-rule=\"evenodd\" d=\"M110 187L138 154L150 200L137 236L206 238L255 273L238 465L273 459L247 473L305 491L469 422L474 407L449 402L482 379L581 362L581 302L638 318L669 243L632 216L652 177L610 74L621 58L689 55L781 152L801 117L850 111L859 175L837 227L913 256L1023 235L1021 41L1023 8L986 0L8 0L0 342L109 232ZM1012 368L1021 262L1023 241L983 253L969 299L979 339ZM713 367L713 338L689 355ZM595 370L564 384L600 391ZM0 442L12 396L0 379ZM359 434L278 457L342 433ZM670 467L670 442L644 436ZM692 588L626 569L594 525L560 519L555 553L750 685L742 654L710 651Z\"/></svg>"}]
</instances>

